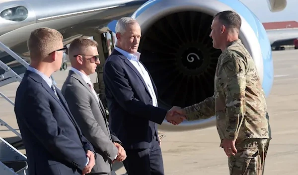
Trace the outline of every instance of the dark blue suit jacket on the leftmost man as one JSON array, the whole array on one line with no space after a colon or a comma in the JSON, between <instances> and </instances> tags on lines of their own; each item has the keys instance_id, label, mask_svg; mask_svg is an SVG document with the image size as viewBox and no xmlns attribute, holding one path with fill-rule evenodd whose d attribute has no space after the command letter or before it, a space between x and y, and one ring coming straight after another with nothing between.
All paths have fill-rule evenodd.
<instances>
[{"instance_id":1,"label":"dark blue suit jacket on the leftmost man","mask_svg":"<svg viewBox=\"0 0 298 175\"><path fill-rule=\"evenodd\" d=\"M56 89L61 100L40 75L27 70L16 91L14 112L29 175L79 175L86 151L94 151Z\"/></svg>"}]
</instances>

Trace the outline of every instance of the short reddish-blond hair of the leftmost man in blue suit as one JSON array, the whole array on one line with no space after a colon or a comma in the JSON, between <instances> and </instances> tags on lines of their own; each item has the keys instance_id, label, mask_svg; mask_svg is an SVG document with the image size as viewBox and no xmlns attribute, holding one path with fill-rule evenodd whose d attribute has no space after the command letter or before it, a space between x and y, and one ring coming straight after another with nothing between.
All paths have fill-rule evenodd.
<instances>
[{"instance_id":1,"label":"short reddish-blond hair of the leftmost man in blue suit","mask_svg":"<svg viewBox=\"0 0 298 175\"><path fill-rule=\"evenodd\" d=\"M28 50L32 60L42 60L52 52L62 49L57 45L63 41L62 34L51 28L43 27L31 32L28 39Z\"/></svg>"}]
</instances>

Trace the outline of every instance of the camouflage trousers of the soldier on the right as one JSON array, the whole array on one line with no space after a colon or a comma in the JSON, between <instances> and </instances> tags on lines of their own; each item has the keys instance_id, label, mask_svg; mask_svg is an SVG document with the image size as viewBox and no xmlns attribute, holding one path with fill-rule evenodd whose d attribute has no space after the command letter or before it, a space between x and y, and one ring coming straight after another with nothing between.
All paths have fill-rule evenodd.
<instances>
[{"instance_id":1,"label":"camouflage trousers of the soldier on the right","mask_svg":"<svg viewBox=\"0 0 298 175\"><path fill-rule=\"evenodd\" d=\"M263 175L270 139L247 139L235 145L237 153L228 158L230 175Z\"/></svg>"}]
</instances>

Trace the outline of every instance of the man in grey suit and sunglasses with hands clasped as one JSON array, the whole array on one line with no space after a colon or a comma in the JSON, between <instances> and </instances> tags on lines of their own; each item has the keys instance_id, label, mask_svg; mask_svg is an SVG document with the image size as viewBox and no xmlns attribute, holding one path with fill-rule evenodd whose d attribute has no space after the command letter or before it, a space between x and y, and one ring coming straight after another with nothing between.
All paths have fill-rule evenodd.
<instances>
[{"instance_id":1,"label":"man in grey suit and sunglasses with hands clasped","mask_svg":"<svg viewBox=\"0 0 298 175\"><path fill-rule=\"evenodd\" d=\"M90 39L75 39L69 47L72 68L62 87L69 108L96 152L96 162L91 174L113 175L111 164L126 159L120 140L110 133L105 109L98 98L89 75L100 64L98 44Z\"/></svg>"}]
</instances>

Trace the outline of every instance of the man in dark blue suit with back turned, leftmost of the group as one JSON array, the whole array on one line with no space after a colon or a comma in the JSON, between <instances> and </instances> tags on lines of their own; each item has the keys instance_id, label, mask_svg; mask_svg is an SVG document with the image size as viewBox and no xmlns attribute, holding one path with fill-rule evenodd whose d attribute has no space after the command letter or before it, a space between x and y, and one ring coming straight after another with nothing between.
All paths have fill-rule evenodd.
<instances>
[{"instance_id":1,"label":"man in dark blue suit with back turned, leftmost of the group","mask_svg":"<svg viewBox=\"0 0 298 175\"><path fill-rule=\"evenodd\" d=\"M14 112L29 175L84 175L95 162L92 145L49 78L60 69L66 50L62 40L63 36L50 28L34 30L28 40L31 63L17 89Z\"/></svg>"}]
</instances>

